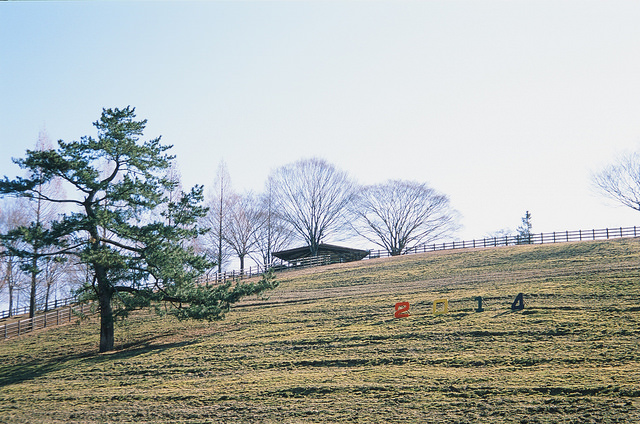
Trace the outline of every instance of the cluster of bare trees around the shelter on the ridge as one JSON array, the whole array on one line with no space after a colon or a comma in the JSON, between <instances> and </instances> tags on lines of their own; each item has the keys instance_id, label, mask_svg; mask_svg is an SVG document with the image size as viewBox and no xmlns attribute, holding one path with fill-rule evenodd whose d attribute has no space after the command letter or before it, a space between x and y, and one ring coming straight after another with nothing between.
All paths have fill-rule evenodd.
<instances>
[{"instance_id":1,"label":"cluster of bare trees around the shelter on the ridge","mask_svg":"<svg viewBox=\"0 0 640 424\"><path fill-rule=\"evenodd\" d=\"M231 189L221 163L203 225L211 231L200 247L222 265L232 257L268 265L273 252L308 246L315 256L327 242L356 239L373 243L390 255L451 236L458 213L449 198L426 183L389 180L359 185L333 164L301 159L275 169L262 194Z\"/></svg>"}]
</instances>

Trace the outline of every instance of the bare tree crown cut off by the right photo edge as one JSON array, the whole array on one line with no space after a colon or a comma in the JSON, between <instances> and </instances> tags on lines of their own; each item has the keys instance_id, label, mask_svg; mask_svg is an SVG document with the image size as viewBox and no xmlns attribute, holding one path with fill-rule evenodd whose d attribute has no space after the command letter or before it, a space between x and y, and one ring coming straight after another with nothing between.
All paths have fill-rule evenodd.
<instances>
[{"instance_id":1,"label":"bare tree crown cut off by the right photo edge","mask_svg":"<svg viewBox=\"0 0 640 424\"><path fill-rule=\"evenodd\" d=\"M596 173L593 183L607 197L640 211L640 154L621 156Z\"/></svg>"}]
</instances>

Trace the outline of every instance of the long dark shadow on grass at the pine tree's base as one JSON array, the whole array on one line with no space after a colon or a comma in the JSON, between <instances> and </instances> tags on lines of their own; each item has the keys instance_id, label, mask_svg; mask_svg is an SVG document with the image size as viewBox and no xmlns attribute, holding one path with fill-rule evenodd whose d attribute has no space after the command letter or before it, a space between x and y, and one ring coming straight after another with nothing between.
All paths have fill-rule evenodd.
<instances>
[{"instance_id":1,"label":"long dark shadow on grass at the pine tree's base","mask_svg":"<svg viewBox=\"0 0 640 424\"><path fill-rule=\"evenodd\" d=\"M154 339L160 337L162 336L157 336L135 343L127 343L119 350L106 353L84 351L75 354L59 354L44 360L34 358L32 360L10 366L0 364L0 388L29 380L35 380L50 373L78 366L79 363L84 366L91 366L105 362L121 361L144 353L154 351L161 352L171 348L189 346L197 342L197 340L189 340L164 344L152 343Z\"/></svg>"}]
</instances>

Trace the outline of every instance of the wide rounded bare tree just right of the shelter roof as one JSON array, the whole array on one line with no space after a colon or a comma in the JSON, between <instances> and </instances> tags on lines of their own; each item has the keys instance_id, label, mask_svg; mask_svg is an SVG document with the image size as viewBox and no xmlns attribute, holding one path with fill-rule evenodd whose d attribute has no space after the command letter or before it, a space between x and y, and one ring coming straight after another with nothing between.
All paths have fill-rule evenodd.
<instances>
[{"instance_id":1,"label":"wide rounded bare tree just right of the shelter roof","mask_svg":"<svg viewBox=\"0 0 640 424\"><path fill-rule=\"evenodd\" d=\"M457 227L457 213L448 197L413 181L363 187L354 198L351 215L357 234L394 256L412 245L447 236Z\"/></svg>"}]
</instances>

